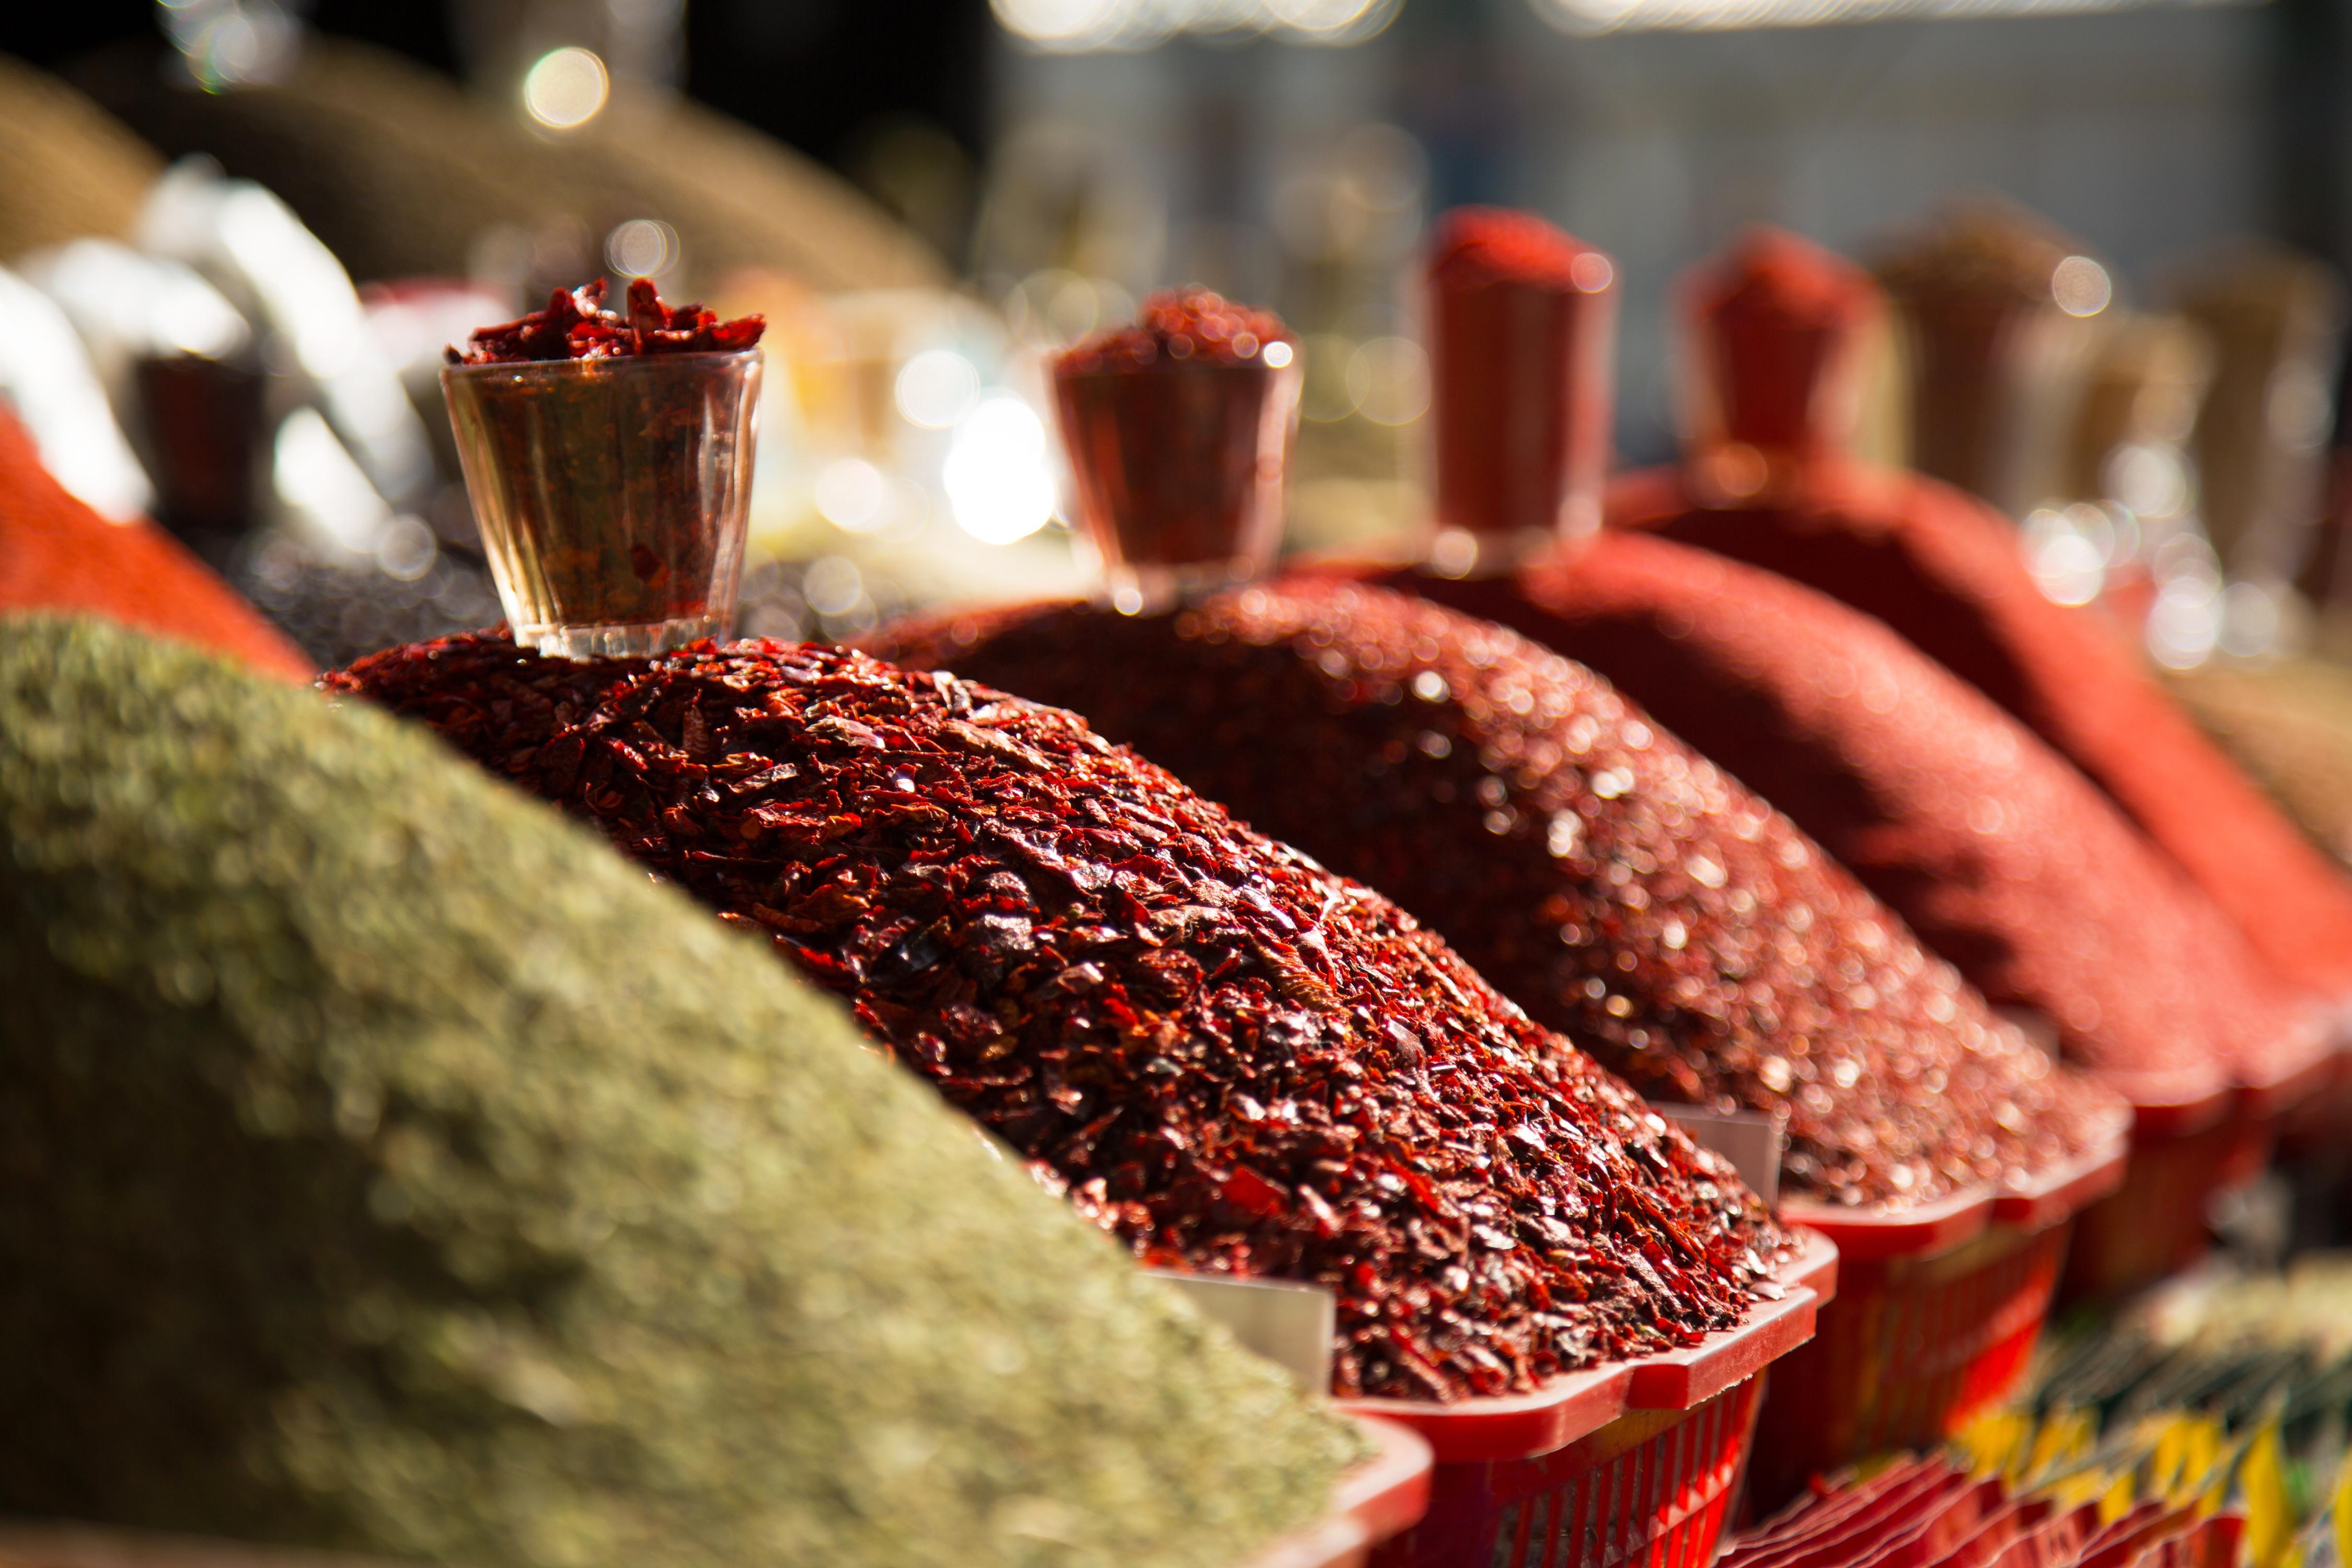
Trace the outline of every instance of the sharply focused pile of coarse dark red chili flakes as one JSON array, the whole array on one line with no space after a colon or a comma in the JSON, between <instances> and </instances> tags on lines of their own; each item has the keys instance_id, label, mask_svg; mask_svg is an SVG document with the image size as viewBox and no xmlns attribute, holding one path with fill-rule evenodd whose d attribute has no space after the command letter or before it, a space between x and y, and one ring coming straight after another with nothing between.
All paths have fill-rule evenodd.
<instances>
[{"instance_id":1,"label":"sharply focused pile of coarse dark red chili flakes","mask_svg":"<svg viewBox=\"0 0 2352 1568\"><path fill-rule=\"evenodd\" d=\"M776 642L473 635L325 686L771 936L1145 1262L1331 1286L1341 1394L1526 1389L1773 1291L1783 1237L1722 1159L1073 715Z\"/></svg>"}]
</instances>

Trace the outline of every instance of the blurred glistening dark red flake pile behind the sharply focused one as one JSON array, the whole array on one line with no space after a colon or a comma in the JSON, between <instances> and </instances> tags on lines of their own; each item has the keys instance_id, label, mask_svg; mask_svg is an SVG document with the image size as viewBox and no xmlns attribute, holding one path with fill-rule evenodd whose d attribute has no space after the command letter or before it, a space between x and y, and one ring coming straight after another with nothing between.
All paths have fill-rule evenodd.
<instances>
[{"instance_id":1,"label":"blurred glistening dark red flake pile behind the sharply focused one","mask_svg":"<svg viewBox=\"0 0 2352 1568\"><path fill-rule=\"evenodd\" d=\"M1783 1110L1788 1190L1919 1204L2105 1143L2053 1067L1788 818L1583 665L1341 583L887 632L1087 715L1428 919L1642 1093Z\"/></svg>"}]
</instances>

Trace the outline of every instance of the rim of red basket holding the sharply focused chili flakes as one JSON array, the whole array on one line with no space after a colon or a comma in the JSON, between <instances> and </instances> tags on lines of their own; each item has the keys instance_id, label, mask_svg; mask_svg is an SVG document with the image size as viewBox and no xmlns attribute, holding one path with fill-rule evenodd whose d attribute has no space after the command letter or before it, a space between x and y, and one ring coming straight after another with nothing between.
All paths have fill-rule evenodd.
<instances>
[{"instance_id":1,"label":"rim of red basket holding the sharply focused chili flakes","mask_svg":"<svg viewBox=\"0 0 2352 1568\"><path fill-rule=\"evenodd\" d=\"M1837 1241L1816 1229L1799 1229L1797 1241L1797 1255L1776 1274L1785 1295L1762 1302L1745 1324L1719 1328L1698 1345L1602 1361L1550 1378L1526 1394L1451 1403L1378 1396L1334 1403L1350 1415L1411 1427L1430 1441L1439 1465L1552 1453L1635 1410L1696 1410L1813 1338L1816 1314L1837 1288Z\"/></svg>"}]
</instances>

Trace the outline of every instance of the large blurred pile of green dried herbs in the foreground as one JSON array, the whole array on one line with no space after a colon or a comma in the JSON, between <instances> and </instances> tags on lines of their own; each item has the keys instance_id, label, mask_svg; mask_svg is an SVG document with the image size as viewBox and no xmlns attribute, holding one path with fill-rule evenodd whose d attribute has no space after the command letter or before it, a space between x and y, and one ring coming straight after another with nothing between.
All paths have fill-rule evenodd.
<instances>
[{"instance_id":1,"label":"large blurred pile of green dried herbs in the foreground","mask_svg":"<svg viewBox=\"0 0 2352 1568\"><path fill-rule=\"evenodd\" d=\"M0 621L0 1512L442 1563L1242 1561L1357 1453L428 736Z\"/></svg>"}]
</instances>

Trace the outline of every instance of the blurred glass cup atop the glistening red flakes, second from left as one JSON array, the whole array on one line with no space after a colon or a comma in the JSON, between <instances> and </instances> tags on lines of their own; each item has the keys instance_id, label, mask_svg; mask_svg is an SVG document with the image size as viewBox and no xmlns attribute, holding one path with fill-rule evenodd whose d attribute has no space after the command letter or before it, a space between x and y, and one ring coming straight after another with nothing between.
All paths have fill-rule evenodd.
<instances>
[{"instance_id":1,"label":"blurred glass cup atop the glistening red flakes, second from left","mask_svg":"<svg viewBox=\"0 0 2352 1568\"><path fill-rule=\"evenodd\" d=\"M1301 371L1275 315L1207 289L1155 294L1134 327L1054 362L1080 527L1117 609L1164 609L1272 564Z\"/></svg>"}]
</instances>

